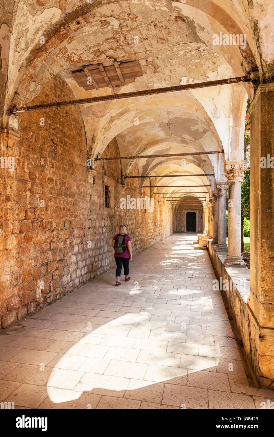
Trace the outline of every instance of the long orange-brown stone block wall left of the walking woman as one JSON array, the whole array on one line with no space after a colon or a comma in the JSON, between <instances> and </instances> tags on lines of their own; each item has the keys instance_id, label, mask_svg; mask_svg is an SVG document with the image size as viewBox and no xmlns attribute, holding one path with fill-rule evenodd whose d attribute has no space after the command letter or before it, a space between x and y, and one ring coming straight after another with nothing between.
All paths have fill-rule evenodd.
<instances>
[{"instance_id":1,"label":"long orange-brown stone block wall left of the walking woman","mask_svg":"<svg viewBox=\"0 0 274 437\"><path fill-rule=\"evenodd\" d=\"M33 104L52 96L73 99L54 78ZM21 138L9 151L14 171L0 168L0 328L113 267L111 242L120 224L127 226L133 254L170 235L173 227L171 208L156 197L153 212L120 209L121 197L141 196L139 180L121 184L119 160L102 161L95 172L87 168L77 106L25 112L18 123ZM116 139L104 155L118 156ZM104 208L106 177L114 185L111 212Z\"/></svg>"}]
</instances>

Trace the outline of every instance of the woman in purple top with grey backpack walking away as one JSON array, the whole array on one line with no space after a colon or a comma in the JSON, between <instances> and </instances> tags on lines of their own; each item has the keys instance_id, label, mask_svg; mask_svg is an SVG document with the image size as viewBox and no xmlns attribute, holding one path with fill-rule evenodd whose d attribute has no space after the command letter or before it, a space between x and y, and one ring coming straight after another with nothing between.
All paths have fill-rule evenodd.
<instances>
[{"instance_id":1,"label":"woman in purple top with grey backpack walking away","mask_svg":"<svg viewBox=\"0 0 274 437\"><path fill-rule=\"evenodd\" d=\"M114 257L116 261L116 287L121 285L120 276L123 266L123 272L125 275L125 281L130 280L129 274L129 262L132 260L132 250L130 237L127 235L126 226L121 225L119 228L119 234L114 235L112 240L112 247L115 250Z\"/></svg>"}]
</instances>

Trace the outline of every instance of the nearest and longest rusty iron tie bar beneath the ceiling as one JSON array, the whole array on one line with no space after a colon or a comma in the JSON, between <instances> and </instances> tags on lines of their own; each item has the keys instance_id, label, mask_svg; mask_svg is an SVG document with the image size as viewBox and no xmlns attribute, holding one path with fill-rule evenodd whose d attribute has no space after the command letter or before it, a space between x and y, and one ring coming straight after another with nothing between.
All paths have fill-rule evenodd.
<instances>
[{"instance_id":1,"label":"nearest and longest rusty iron tie bar beneath the ceiling","mask_svg":"<svg viewBox=\"0 0 274 437\"><path fill-rule=\"evenodd\" d=\"M188 83L185 85L176 85L174 87L151 88L149 90L132 91L130 93L109 94L106 96L88 97L86 99L67 100L63 102L42 103L33 106L21 106L19 108L10 108L10 114L24 111L35 111L38 109L60 108L62 106L82 105L87 103L103 102L107 100L125 99L130 97L151 96L153 94L172 93L175 91L194 90L196 88L214 87L216 85L227 85L229 83L249 82L250 76L230 77L221 80L209 80L208 82Z\"/></svg>"}]
</instances>

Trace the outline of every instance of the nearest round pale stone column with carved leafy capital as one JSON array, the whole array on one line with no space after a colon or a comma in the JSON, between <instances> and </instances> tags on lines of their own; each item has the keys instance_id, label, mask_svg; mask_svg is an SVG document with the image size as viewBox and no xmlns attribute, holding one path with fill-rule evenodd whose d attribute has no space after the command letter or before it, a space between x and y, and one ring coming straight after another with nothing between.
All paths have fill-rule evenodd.
<instances>
[{"instance_id":1,"label":"nearest round pale stone column with carved leafy capital","mask_svg":"<svg viewBox=\"0 0 274 437\"><path fill-rule=\"evenodd\" d=\"M224 169L229 189L226 267L247 267L241 255L241 183L245 170L247 161L230 161Z\"/></svg>"}]
</instances>

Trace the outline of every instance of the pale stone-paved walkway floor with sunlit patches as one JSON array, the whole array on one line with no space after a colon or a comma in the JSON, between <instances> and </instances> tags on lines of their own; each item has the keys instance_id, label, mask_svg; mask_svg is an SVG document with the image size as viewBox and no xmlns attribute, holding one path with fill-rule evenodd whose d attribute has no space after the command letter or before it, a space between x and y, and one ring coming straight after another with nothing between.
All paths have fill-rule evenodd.
<instances>
[{"instance_id":1,"label":"pale stone-paved walkway floor with sunlit patches","mask_svg":"<svg viewBox=\"0 0 274 437\"><path fill-rule=\"evenodd\" d=\"M205 250L173 234L0 334L0 401L20 408L261 408ZM196 245L197 246L197 245ZM233 370L231 370L233 365ZM271 401L271 402L272 402Z\"/></svg>"}]
</instances>

